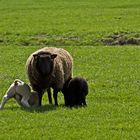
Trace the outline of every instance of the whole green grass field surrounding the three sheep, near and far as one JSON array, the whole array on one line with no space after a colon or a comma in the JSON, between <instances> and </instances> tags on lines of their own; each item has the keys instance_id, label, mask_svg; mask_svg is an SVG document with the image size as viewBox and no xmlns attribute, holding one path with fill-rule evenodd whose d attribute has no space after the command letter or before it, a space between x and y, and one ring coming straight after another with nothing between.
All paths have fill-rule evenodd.
<instances>
[{"instance_id":1,"label":"whole green grass field surrounding the three sheep, near and far","mask_svg":"<svg viewBox=\"0 0 140 140\"><path fill-rule=\"evenodd\" d=\"M0 17L0 100L14 79L29 82L26 60L45 46L69 51L89 84L87 107L64 107L61 93L58 107L46 93L35 109L9 100L0 140L139 140L139 0L0 0Z\"/></svg>"}]
</instances>

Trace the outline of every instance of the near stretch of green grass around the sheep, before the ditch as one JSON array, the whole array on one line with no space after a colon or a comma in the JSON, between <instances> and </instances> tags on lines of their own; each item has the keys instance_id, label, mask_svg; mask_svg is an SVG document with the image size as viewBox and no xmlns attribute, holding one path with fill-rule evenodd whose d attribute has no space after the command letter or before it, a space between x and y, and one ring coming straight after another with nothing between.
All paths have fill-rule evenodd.
<instances>
[{"instance_id":1,"label":"near stretch of green grass around the sheep, before the ditch","mask_svg":"<svg viewBox=\"0 0 140 140\"><path fill-rule=\"evenodd\" d=\"M4 48L1 46L0 52ZM24 64L27 56L38 48L6 46L7 51L1 53L1 97L13 79L27 81ZM65 49L74 58L74 76L88 80L88 107L66 108L62 94L59 107L48 105L46 94L43 107L37 109L22 109L11 100L0 112L0 139L138 139L139 47Z\"/></svg>"}]
</instances>

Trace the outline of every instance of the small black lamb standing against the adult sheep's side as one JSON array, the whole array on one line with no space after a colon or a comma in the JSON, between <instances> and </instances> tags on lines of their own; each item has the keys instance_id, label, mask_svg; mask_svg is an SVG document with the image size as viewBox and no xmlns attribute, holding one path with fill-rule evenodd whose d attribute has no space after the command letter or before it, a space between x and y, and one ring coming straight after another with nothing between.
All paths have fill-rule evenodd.
<instances>
[{"instance_id":1,"label":"small black lamb standing against the adult sheep's side","mask_svg":"<svg viewBox=\"0 0 140 140\"><path fill-rule=\"evenodd\" d=\"M62 93L64 94L66 106L86 106L88 94L88 83L84 78L75 77L65 82Z\"/></svg>"}]
</instances>

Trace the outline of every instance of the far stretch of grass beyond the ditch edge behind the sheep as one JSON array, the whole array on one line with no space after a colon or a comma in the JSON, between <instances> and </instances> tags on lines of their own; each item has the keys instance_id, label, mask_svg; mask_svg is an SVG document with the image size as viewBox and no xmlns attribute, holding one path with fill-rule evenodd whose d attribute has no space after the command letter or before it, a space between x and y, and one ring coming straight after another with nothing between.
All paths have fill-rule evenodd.
<instances>
[{"instance_id":1,"label":"far stretch of grass beyond the ditch edge behind the sheep","mask_svg":"<svg viewBox=\"0 0 140 140\"><path fill-rule=\"evenodd\" d=\"M120 32L140 38L139 0L1 0L0 5L3 45L101 45Z\"/></svg>"}]
</instances>

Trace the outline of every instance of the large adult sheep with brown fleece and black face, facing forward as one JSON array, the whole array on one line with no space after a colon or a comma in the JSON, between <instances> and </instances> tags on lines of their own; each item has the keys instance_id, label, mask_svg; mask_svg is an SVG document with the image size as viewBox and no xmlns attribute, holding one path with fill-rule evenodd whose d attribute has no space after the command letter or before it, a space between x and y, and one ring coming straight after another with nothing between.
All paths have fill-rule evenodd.
<instances>
[{"instance_id":1,"label":"large adult sheep with brown fleece and black face, facing forward","mask_svg":"<svg viewBox=\"0 0 140 140\"><path fill-rule=\"evenodd\" d=\"M45 47L29 56L26 62L27 76L33 90L39 93L40 106L45 90L49 103L52 103L50 88L53 88L55 105L58 105L57 93L71 79L72 65L71 55L62 48Z\"/></svg>"}]
</instances>

